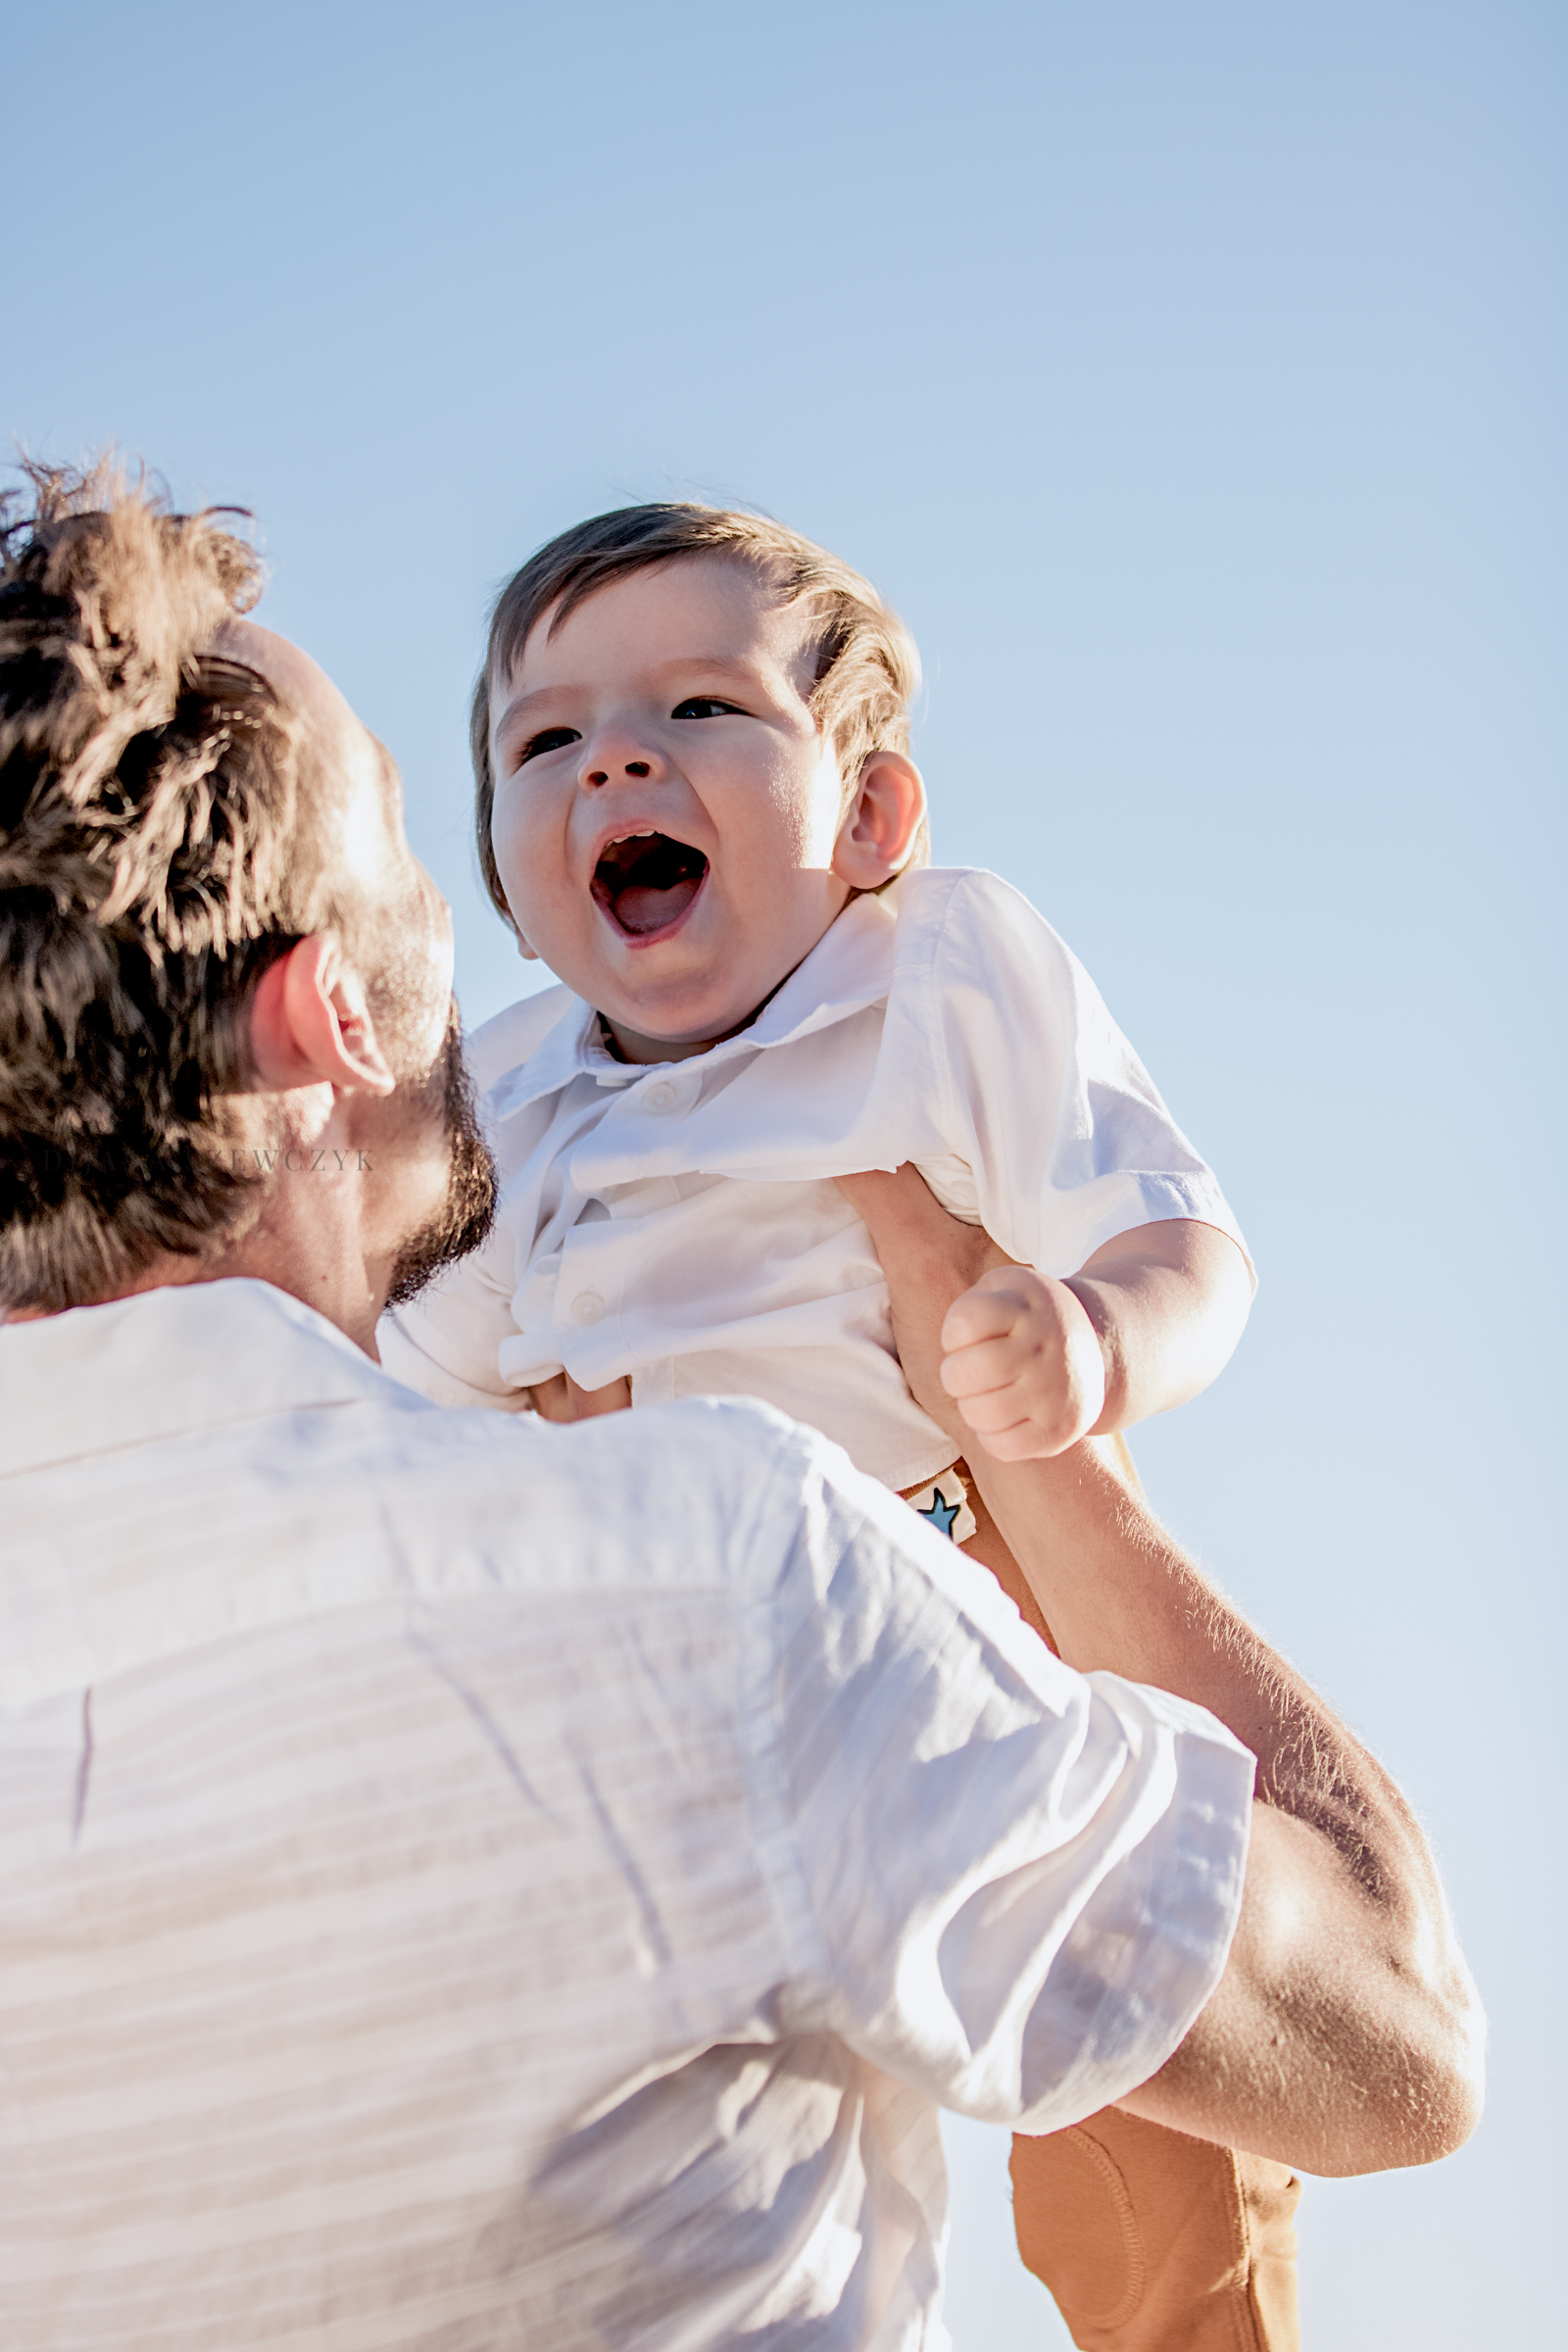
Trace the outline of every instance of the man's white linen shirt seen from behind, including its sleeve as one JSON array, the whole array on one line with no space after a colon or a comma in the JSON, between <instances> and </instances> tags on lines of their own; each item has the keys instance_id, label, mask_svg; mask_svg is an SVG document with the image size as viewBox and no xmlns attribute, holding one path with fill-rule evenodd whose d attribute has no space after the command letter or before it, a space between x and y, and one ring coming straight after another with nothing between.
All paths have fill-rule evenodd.
<instances>
[{"instance_id":1,"label":"man's white linen shirt seen from behind, including its sleeve","mask_svg":"<svg viewBox=\"0 0 1568 2352\"><path fill-rule=\"evenodd\" d=\"M1145 2079L1251 1757L741 1404L259 1282L0 1329L0 2343L938 2347L938 2103Z\"/></svg>"}]
</instances>

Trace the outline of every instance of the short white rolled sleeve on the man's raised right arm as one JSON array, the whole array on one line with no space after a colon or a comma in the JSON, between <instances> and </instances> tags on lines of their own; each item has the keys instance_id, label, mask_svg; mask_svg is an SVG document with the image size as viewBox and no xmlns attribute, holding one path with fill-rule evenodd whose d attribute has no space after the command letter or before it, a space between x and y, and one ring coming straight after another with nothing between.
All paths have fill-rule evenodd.
<instances>
[{"instance_id":1,"label":"short white rolled sleeve on the man's raised right arm","mask_svg":"<svg viewBox=\"0 0 1568 2352\"><path fill-rule=\"evenodd\" d=\"M1056 2131L1159 2072L1218 1985L1253 1757L1201 1708L1065 1668L907 1519L830 1486L780 1604L825 1952L799 2023L945 2107Z\"/></svg>"}]
</instances>

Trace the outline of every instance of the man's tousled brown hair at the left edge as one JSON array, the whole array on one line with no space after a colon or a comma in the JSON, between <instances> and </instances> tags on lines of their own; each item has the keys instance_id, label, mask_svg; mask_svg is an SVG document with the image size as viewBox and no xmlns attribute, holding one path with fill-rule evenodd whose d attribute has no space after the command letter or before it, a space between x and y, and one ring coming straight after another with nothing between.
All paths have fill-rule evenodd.
<instances>
[{"instance_id":1,"label":"man's tousled brown hair at the left edge","mask_svg":"<svg viewBox=\"0 0 1568 2352\"><path fill-rule=\"evenodd\" d=\"M212 654L252 550L106 466L26 473L0 515L0 1305L59 1310L242 1209L216 1098L313 858L289 713Z\"/></svg>"}]
</instances>

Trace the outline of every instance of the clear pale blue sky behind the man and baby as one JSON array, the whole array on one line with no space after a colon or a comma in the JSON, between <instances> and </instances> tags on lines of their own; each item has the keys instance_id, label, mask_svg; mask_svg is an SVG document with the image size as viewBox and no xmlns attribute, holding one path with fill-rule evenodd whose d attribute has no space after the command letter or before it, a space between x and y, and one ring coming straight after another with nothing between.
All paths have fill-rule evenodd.
<instances>
[{"instance_id":1,"label":"clear pale blue sky behind the man and baby","mask_svg":"<svg viewBox=\"0 0 1568 2352\"><path fill-rule=\"evenodd\" d=\"M745 501L912 623L938 858L1067 934L1262 1270L1145 1479L1493 2016L1458 2159L1307 2187L1335 2352L1561 2340L1566 68L1528 0L0 7L0 430L256 510L470 1023L538 978L463 710L541 539ZM959 2352L1065 2345L952 2150Z\"/></svg>"}]
</instances>

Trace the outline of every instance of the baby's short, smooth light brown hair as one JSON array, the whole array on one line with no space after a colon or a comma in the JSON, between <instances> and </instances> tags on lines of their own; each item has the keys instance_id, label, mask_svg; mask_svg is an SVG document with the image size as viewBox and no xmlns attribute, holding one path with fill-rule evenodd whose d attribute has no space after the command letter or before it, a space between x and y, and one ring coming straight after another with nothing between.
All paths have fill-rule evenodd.
<instances>
[{"instance_id":1,"label":"baby's short, smooth light brown hair","mask_svg":"<svg viewBox=\"0 0 1568 2352\"><path fill-rule=\"evenodd\" d=\"M825 548L788 532L783 522L726 506L618 506L550 539L515 572L496 597L484 668L473 694L468 741L475 769L475 835L480 873L508 917L489 828L496 774L489 757L491 682L505 680L529 633L555 604L555 621L609 581L686 555L729 555L757 572L780 604L804 604L813 633L816 687L811 710L835 746L851 786L875 750L910 748L910 703L919 689L919 654L898 614L870 581ZM926 858L922 821L907 863Z\"/></svg>"}]
</instances>

